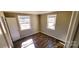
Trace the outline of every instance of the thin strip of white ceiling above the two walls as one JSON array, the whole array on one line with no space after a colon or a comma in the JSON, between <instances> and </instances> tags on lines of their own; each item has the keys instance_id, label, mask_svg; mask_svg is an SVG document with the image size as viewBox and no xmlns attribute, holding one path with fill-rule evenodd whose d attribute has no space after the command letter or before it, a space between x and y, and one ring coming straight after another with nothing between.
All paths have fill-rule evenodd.
<instances>
[{"instance_id":1,"label":"thin strip of white ceiling above the two walls","mask_svg":"<svg viewBox=\"0 0 79 59\"><path fill-rule=\"evenodd\" d=\"M45 14L45 13L51 13L55 11L11 11L15 13L24 13L24 14Z\"/></svg>"}]
</instances>

